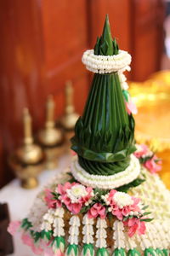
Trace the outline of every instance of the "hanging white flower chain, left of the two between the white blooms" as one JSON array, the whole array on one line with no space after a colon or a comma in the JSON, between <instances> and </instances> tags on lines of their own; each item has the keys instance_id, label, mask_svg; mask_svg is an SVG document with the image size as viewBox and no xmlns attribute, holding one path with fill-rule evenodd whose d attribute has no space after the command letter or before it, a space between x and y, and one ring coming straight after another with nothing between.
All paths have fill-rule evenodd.
<instances>
[{"instance_id":1,"label":"hanging white flower chain, left of the two between the white blooms","mask_svg":"<svg viewBox=\"0 0 170 256\"><path fill-rule=\"evenodd\" d=\"M82 218L82 242L89 244L94 243L94 218L88 218L88 214L85 214Z\"/></svg>"}]
</instances>

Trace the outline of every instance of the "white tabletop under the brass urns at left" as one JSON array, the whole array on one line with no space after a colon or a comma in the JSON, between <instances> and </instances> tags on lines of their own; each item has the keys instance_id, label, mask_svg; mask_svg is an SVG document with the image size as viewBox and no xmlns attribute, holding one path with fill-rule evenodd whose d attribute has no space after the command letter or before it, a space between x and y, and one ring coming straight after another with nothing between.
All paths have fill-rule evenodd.
<instances>
[{"instance_id":1,"label":"white tabletop under the brass urns at left","mask_svg":"<svg viewBox=\"0 0 170 256\"><path fill-rule=\"evenodd\" d=\"M54 177L56 173L61 172L69 165L71 156L64 155L59 159L59 166L54 170L46 170L40 174L39 186L36 189L23 189L20 187L20 181L16 178L8 183L3 189L0 189L0 202L8 203L8 210L11 220L20 220L26 218L31 205L43 186ZM22 244L20 237L14 236L14 253L11 256L33 256L30 247Z\"/></svg>"}]
</instances>

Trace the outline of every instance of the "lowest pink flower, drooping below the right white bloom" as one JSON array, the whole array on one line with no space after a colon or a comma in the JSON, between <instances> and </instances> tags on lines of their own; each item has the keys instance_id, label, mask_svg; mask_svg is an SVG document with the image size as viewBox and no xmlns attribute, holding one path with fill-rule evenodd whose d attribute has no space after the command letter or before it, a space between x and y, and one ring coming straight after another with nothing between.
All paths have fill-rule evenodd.
<instances>
[{"instance_id":1,"label":"lowest pink flower, drooping below the right white bloom","mask_svg":"<svg viewBox=\"0 0 170 256\"><path fill-rule=\"evenodd\" d=\"M123 224L128 228L128 236L132 237L135 233L138 235L144 235L146 227L144 221L140 221L139 218L129 218L124 221Z\"/></svg>"}]
</instances>

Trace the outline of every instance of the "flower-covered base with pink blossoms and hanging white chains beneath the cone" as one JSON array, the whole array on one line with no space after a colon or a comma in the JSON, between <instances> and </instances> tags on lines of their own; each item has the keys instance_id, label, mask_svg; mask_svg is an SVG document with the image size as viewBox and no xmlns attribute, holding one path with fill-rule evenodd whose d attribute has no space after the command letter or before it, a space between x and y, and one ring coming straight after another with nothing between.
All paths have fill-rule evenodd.
<instances>
[{"instance_id":1,"label":"flower-covered base with pink blossoms and hanging white chains beneath the cone","mask_svg":"<svg viewBox=\"0 0 170 256\"><path fill-rule=\"evenodd\" d=\"M154 173L159 169L156 156L144 145L138 148L139 178L144 180L139 186L119 189L127 193L93 189L75 182L69 167L37 195L29 216L11 224L9 231L17 228L24 243L40 255L167 256L170 192Z\"/></svg>"}]
</instances>

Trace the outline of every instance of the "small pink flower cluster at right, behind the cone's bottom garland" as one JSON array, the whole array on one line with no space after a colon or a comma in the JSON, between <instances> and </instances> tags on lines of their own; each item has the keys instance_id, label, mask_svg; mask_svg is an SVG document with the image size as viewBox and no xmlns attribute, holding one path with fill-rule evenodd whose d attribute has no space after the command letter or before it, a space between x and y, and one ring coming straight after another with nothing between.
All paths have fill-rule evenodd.
<instances>
[{"instance_id":1,"label":"small pink flower cluster at right, behind the cone's bottom garland","mask_svg":"<svg viewBox=\"0 0 170 256\"><path fill-rule=\"evenodd\" d=\"M159 160L150 149L144 144L136 144L137 150L134 155L139 159L140 163L151 173L161 171L161 160Z\"/></svg>"}]
</instances>

